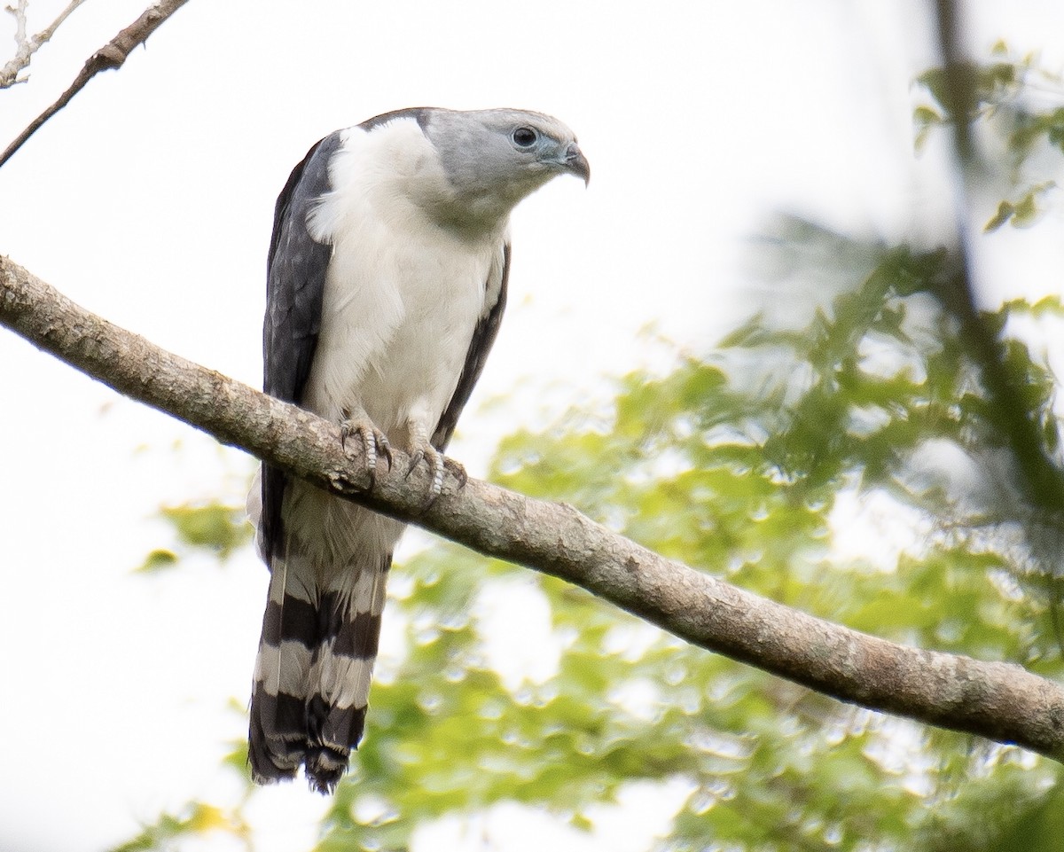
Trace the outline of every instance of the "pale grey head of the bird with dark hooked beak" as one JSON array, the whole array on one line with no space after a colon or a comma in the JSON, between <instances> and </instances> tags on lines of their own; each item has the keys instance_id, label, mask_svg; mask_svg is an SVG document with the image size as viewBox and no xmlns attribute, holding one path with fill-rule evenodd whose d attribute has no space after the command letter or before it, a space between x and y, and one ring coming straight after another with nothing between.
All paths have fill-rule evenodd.
<instances>
[{"instance_id":1,"label":"pale grey head of the bird with dark hooked beak","mask_svg":"<svg viewBox=\"0 0 1064 852\"><path fill-rule=\"evenodd\" d=\"M591 180L576 135L549 115L423 110L418 121L439 152L453 190L454 214L466 224L504 222L518 201L558 174L576 174L585 184Z\"/></svg>"}]
</instances>

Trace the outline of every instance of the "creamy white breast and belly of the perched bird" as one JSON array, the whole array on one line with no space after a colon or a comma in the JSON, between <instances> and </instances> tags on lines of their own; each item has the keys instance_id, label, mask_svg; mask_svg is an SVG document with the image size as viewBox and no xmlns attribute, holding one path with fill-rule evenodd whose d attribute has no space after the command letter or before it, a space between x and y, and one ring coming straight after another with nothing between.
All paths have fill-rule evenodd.
<instances>
[{"instance_id":1,"label":"creamy white breast and belly of the perched bird","mask_svg":"<svg viewBox=\"0 0 1064 852\"><path fill-rule=\"evenodd\" d=\"M402 446L408 420L431 434L454 392L502 234L460 236L418 205L446 178L412 119L347 131L330 180L309 222L333 255L303 404L331 419L361 404Z\"/></svg>"}]
</instances>

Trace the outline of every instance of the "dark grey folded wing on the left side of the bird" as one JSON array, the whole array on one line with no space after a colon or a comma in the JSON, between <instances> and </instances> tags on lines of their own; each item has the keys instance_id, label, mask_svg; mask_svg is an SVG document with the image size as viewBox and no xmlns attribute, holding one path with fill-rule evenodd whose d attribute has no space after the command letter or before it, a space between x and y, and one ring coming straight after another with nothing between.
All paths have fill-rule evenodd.
<instances>
[{"instance_id":1,"label":"dark grey folded wing on the left side of the bird","mask_svg":"<svg viewBox=\"0 0 1064 852\"><path fill-rule=\"evenodd\" d=\"M321 300L332 246L316 241L306 216L328 193L329 161L339 147L339 133L321 139L293 169L273 210L273 235L266 258L266 317L263 320L263 390L299 403L314 361L321 329ZM264 466L260 520L269 563L281 538L281 498L286 477Z\"/></svg>"}]
</instances>

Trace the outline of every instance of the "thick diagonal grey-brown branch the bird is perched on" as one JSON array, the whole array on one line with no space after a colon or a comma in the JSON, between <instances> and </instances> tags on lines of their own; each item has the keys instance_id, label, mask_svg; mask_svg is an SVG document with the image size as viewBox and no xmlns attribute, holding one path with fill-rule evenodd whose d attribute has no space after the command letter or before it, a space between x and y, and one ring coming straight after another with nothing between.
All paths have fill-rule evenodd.
<instances>
[{"instance_id":1,"label":"thick diagonal grey-brown branch the bird is perched on","mask_svg":"<svg viewBox=\"0 0 1064 852\"><path fill-rule=\"evenodd\" d=\"M485 555L582 586L689 642L843 701L1064 761L1064 689L1019 666L905 648L663 558L568 505L448 474L395 451L371 491L361 454L309 412L167 352L0 257L0 324L119 392L322 488ZM355 445L356 446L356 445ZM406 478L411 472L410 478Z\"/></svg>"}]
</instances>

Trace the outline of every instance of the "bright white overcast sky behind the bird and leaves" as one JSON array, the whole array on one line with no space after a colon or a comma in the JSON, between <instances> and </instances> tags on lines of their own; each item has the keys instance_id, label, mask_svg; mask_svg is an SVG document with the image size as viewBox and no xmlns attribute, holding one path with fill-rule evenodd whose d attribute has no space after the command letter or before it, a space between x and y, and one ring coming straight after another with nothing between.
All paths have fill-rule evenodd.
<instances>
[{"instance_id":1,"label":"bright white overcast sky behind the bird and leaves","mask_svg":"<svg viewBox=\"0 0 1064 852\"><path fill-rule=\"evenodd\" d=\"M31 83L0 91L0 145L144 4L76 12ZM31 31L63 5L32 0ZM986 0L972 24L978 51L1003 36L1064 62L1059 3ZM0 20L0 37L13 31ZM745 313L747 237L769 212L890 238L945 233L941 146L912 154L910 81L931 45L914 0L190 0L0 169L0 252L257 385L273 201L314 141L410 105L552 113L593 180L555 181L514 216L511 307L452 448L477 474L506 430L652 360L646 323L711 346ZM1060 224L981 239L987 291L1051 291ZM247 697L266 571L250 555L222 571L129 571L168 544L151 520L161 502L240 494L251 463L3 332L0 400L0 850L88 852L161 807L230 792L220 744L245 720L221 708ZM263 849L309 845L319 799L288 785L264 802ZM523 848L504 837L515 820L488 822L481 837ZM639 822L624 842L570 848L637 852L667 825ZM470 848L452 828L436 848Z\"/></svg>"}]
</instances>

